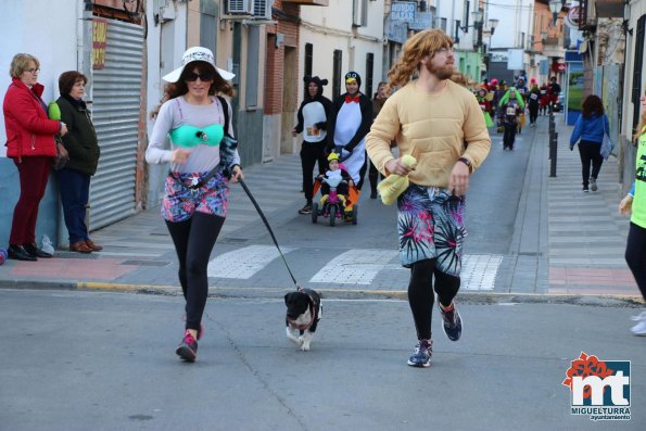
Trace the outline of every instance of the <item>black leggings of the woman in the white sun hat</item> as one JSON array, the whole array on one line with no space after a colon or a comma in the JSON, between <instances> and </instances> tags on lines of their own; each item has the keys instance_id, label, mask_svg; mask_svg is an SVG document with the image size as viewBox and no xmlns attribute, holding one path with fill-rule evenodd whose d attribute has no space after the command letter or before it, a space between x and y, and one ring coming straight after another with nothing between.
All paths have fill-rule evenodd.
<instances>
[{"instance_id":1,"label":"black leggings of the woman in the white sun hat","mask_svg":"<svg viewBox=\"0 0 646 431\"><path fill-rule=\"evenodd\" d=\"M179 259L179 283L186 300L186 329L200 329L208 295L206 267L224 223L224 217L203 213L195 213L185 221L166 221Z\"/></svg>"}]
</instances>

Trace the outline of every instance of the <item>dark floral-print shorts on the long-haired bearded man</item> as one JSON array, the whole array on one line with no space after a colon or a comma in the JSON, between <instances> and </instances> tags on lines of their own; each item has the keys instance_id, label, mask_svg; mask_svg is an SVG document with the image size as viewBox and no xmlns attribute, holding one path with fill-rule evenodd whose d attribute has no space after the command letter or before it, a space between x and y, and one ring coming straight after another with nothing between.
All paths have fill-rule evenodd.
<instances>
[{"instance_id":1,"label":"dark floral-print shorts on the long-haired bearded man","mask_svg":"<svg viewBox=\"0 0 646 431\"><path fill-rule=\"evenodd\" d=\"M397 199L400 258L410 268L414 263L435 258L435 268L459 277L465 198L451 195L447 189L410 185Z\"/></svg>"}]
</instances>

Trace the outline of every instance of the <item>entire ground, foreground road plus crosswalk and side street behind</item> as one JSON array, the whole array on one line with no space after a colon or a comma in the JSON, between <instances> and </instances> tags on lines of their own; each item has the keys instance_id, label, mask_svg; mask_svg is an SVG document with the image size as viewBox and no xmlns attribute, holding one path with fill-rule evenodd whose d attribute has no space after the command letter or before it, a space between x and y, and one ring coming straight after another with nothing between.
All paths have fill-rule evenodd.
<instances>
[{"instance_id":1,"label":"entire ground, foreground road plus crosswalk and side street behind","mask_svg":"<svg viewBox=\"0 0 646 431\"><path fill-rule=\"evenodd\" d=\"M244 170L300 284L322 293L311 352L284 335L293 284L233 186L195 364L175 355L183 299L159 208L92 232L100 253L0 266L0 431L644 429L617 161L583 193L571 127L557 130L555 178L546 117L514 152L492 135L467 200L463 338L448 341L433 313L429 369L405 364L416 340L395 210L364 193L358 225L314 225L296 214L300 160L286 155ZM630 420L571 414L562 382L582 353L631 362Z\"/></svg>"}]
</instances>

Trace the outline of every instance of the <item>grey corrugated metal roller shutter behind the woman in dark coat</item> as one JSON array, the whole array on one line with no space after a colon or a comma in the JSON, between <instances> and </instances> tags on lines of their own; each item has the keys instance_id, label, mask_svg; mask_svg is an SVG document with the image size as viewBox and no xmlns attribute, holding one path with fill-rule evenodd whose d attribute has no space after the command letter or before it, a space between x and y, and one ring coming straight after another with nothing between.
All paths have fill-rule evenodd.
<instances>
[{"instance_id":1,"label":"grey corrugated metal roller shutter behind the woman in dark coat","mask_svg":"<svg viewBox=\"0 0 646 431\"><path fill-rule=\"evenodd\" d=\"M101 147L90 186L90 230L136 212L143 27L109 20L105 67L92 74L92 123Z\"/></svg>"}]
</instances>

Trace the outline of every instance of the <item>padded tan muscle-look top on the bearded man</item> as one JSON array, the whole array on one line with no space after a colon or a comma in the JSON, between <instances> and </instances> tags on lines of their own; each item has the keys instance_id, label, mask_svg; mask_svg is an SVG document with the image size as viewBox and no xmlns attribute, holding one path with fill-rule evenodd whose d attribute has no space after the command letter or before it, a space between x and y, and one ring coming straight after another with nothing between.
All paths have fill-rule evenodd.
<instances>
[{"instance_id":1,"label":"padded tan muscle-look top on the bearded man","mask_svg":"<svg viewBox=\"0 0 646 431\"><path fill-rule=\"evenodd\" d=\"M433 187L448 186L459 157L471 162L471 172L477 169L491 148L476 96L451 80L432 93L419 90L411 81L385 101L366 136L368 156L385 174L385 163L394 159L391 140L397 142L400 155L417 157L410 181Z\"/></svg>"}]
</instances>

